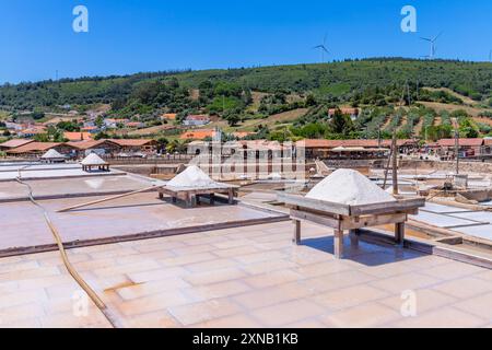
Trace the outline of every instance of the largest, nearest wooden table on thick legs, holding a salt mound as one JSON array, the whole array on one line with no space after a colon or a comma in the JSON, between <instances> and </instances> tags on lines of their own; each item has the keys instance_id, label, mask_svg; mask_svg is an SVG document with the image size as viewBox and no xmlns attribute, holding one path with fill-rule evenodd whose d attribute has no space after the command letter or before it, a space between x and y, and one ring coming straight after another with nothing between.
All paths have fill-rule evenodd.
<instances>
[{"instance_id":1,"label":"largest, nearest wooden table on thick legs, holding a salt mound","mask_svg":"<svg viewBox=\"0 0 492 350\"><path fill-rule=\"evenodd\" d=\"M395 224L395 242L403 245L405 224L408 215L418 214L425 206L424 198L398 199L398 201L364 206L349 206L311 199L300 195L278 192L280 202L290 208L294 222L294 242L301 244L301 222L309 221L335 230L335 256L343 257L343 235L350 232L353 244L359 242L359 230Z\"/></svg>"}]
</instances>

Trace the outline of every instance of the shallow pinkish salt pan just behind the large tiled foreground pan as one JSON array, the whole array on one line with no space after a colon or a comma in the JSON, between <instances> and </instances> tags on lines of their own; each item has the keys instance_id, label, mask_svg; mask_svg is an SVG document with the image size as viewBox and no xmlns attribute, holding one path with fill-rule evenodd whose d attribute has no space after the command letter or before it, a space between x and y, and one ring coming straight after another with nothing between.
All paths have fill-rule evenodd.
<instances>
[{"instance_id":1,"label":"shallow pinkish salt pan just behind the large tiled foreground pan","mask_svg":"<svg viewBox=\"0 0 492 350\"><path fill-rule=\"evenodd\" d=\"M63 242L143 234L179 228L273 218L277 214L241 206L183 208L162 201L157 192L57 213L57 210L101 197L44 200L43 206L58 228ZM52 244L42 211L28 201L0 205L0 249Z\"/></svg>"}]
</instances>

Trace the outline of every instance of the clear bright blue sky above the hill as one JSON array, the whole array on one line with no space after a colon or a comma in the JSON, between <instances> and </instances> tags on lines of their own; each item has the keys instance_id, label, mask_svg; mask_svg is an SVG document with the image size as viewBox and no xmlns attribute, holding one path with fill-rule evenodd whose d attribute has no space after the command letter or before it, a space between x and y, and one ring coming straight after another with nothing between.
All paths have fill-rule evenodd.
<instances>
[{"instance_id":1,"label":"clear bright blue sky above the hill","mask_svg":"<svg viewBox=\"0 0 492 350\"><path fill-rule=\"evenodd\" d=\"M72 30L79 4L89 33ZM400 30L406 4L418 33ZM418 58L441 31L436 57L487 60L492 1L0 0L0 82L319 62L325 33L330 59Z\"/></svg>"}]
</instances>

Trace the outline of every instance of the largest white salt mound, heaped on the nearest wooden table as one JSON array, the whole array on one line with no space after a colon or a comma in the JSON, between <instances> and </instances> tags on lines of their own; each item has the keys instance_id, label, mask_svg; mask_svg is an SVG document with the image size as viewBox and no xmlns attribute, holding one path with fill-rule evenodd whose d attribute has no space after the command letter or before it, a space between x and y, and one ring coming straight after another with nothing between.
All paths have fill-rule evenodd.
<instances>
[{"instance_id":1,"label":"largest white salt mound, heaped on the nearest wooden table","mask_svg":"<svg viewBox=\"0 0 492 350\"><path fill-rule=\"evenodd\" d=\"M396 201L388 192L352 170L338 170L316 185L306 198L348 206L364 206Z\"/></svg>"}]
</instances>

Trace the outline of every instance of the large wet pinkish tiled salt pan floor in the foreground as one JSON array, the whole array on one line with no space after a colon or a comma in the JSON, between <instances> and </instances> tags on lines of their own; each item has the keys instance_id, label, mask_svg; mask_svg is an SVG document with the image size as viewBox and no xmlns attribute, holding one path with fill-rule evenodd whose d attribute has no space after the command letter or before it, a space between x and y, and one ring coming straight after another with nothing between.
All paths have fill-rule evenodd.
<instances>
[{"instance_id":1,"label":"large wet pinkish tiled salt pan floor in the foreground","mask_svg":"<svg viewBox=\"0 0 492 350\"><path fill-rule=\"evenodd\" d=\"M484 268L361 242L333 257L331 230L292 223L207 231L68 252L125 327L491 327ZM0 327L109 327L73 314L57 252L0 259ZM405 291L417 314L401 314Z\"/></svg>"}]
</instances>

